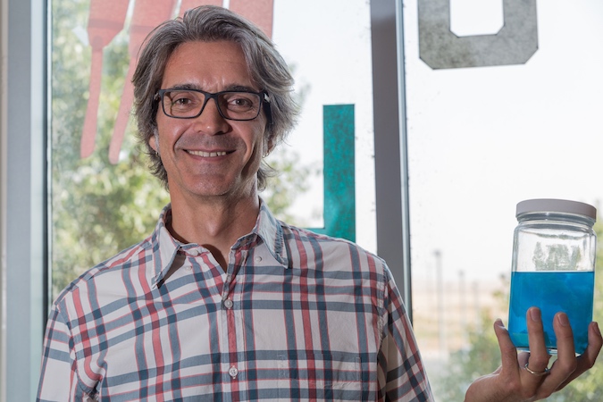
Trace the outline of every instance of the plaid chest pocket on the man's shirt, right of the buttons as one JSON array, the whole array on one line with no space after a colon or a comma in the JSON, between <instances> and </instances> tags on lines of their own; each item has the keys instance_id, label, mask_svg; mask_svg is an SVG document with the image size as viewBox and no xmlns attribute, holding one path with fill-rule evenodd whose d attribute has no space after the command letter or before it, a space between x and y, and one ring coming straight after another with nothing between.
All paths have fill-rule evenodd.
<instances>
[{"instance_id":1,"label":"plaid chest pocket on the man's shirt, right of the buttons","mask_svg":"<svg viewBox=\"0 0 603 402\"><path fill-rule=\"evenodd\" d=\"M350 353L279 355L279 400L361 400L362 362Z\"/></svg>"}]
</instances>

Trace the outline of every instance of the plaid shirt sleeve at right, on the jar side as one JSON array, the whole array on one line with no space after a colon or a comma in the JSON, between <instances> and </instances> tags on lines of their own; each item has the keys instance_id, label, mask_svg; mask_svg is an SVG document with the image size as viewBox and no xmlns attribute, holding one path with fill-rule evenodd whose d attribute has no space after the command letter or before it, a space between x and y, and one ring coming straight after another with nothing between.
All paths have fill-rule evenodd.
<instances>
[{"instance_id":1,"label":"plaid shirt sleeve at right, on the jar side","mask_svg":"<svg viewBox=\"0 0 603 402\"><path fill-rule=\"evenodd\" d=\"M433 401L406 306L389 269L385 270L380 350L381 395L386 401Z\"/></svg>"}]
</instances>

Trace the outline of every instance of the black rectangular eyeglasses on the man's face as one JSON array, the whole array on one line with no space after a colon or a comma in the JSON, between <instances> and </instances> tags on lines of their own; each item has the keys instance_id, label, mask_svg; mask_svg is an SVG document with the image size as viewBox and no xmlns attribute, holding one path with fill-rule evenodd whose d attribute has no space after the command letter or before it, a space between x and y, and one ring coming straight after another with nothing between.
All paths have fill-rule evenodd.
<instances>
[{"instance_id":1,"label":"black rectangular eyeglasses on the man's face","mask_svg":"<svg viewBox=\"0 0 603 402\"><path fill-rule=\"evenodd\" d=\"M221 91L212 94L201 89L160 89L155 99L161 102L163 113L175 119L194 119L203 113L205 105L214 99L218 112L224 119L254 120L269 103L265 91Z\"/></svg>"}]
</instances>

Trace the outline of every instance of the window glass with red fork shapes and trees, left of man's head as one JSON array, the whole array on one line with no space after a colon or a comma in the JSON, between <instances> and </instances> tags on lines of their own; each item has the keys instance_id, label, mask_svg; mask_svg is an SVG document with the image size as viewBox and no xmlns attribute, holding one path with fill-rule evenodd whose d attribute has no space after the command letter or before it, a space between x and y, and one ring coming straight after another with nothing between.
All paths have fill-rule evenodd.
<instances>
[{"instance_id":1,"label":"window glass with red fork shapes and trees, left of man's head","mask_svg":"<svg viewBox=\"0 0 603 402\"><path fill-rule=\"evenodd\" d=\"M130 110L131 52L122 27L132 10L128 2L92 4L51 2L52 298L144 239L167 202L133 127L115 129Z\"/></svg>"}]
</instances>

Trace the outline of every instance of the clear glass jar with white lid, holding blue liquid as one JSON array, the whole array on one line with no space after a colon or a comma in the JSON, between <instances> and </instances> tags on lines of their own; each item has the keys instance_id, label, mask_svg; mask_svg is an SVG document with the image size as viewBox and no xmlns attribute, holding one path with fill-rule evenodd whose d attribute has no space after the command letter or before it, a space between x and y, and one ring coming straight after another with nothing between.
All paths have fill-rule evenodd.
<instances>
[{"instance_id":1,"label":"clear glass jar with white lid, holding blue liquid","mask_svg":"<svg viewBox=\"0 0 603 402\"><path fill-rule=\"evenodd\" d=\"M528 350L525 314L540 307L549 353L557 353L553 317L565 312L576 354L588 345L592 321L597 235L594 206L562 199L517 204L508 331L515 347Z\"/></svg>"}]
</instances>

